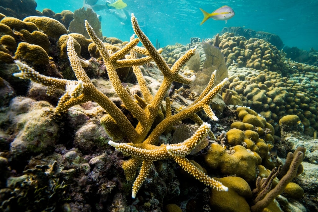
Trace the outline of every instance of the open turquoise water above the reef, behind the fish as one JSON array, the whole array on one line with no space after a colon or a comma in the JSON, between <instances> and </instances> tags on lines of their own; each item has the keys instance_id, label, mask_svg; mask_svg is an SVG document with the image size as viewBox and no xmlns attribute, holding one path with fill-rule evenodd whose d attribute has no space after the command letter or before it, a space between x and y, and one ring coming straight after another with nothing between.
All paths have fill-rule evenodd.
<instances>
[{"instance_id":1,"label":"open turquoise water above the reef, behind the fish","mask_svg":"<svg viewBox=\"0 0 318 212\"><path fill-rule=\"evenodd\" d=\"M55 13L74 11L83 6L82 0L36 0L37 10L49 8ZM240 1L144 1L124 0L128 13L134 13L142 30L153 43L160 46L190 43L191 37L211 38L224 27L241 26L256 31L277 34L285 45L318 50L317 0L240 0ZM105 4L99 0L97 4ZM232 7L235 16L224 21L207 20L200 26L203 15L199 8L211 13L223 5ZM121 22L106 10L96 12L102 18L102 32L107 37L129 40L133 34L130 23Z\"/></svg>"}]
</instances>

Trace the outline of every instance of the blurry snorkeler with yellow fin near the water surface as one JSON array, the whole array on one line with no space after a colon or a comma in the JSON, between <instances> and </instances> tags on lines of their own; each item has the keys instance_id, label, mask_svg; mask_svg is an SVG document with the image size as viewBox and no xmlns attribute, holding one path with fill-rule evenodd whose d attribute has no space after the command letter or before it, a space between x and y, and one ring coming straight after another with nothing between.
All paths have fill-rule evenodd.
<instances>
[{"instance_id":1,"label":"blurry snorkeler with yellow fin near the water surface","mask_svg":"<svg viewBox=\"0 0 318 212\"><path fill-rule=\"evenodd\" d=\"M117 0L114 3L106 1L106 4L96 4L97 2L98 0L84 0L84 7L90 7L95 12L105 10L106 12L114 15L121 22L122 25L130 23L130 15L128 11L124 9L125 7L127 7L127 4L124 3L122 0ZM100 16L99 19L101 20Z\"/></svg>"}]
</instances>

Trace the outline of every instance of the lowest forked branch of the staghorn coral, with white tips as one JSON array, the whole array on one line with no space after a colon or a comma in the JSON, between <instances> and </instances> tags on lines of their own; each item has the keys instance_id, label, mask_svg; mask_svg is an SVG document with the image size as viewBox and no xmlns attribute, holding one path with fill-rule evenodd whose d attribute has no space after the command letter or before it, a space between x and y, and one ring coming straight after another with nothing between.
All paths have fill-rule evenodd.
<instances>
[{"instance_id":1,"label":"lowest forked branch of the staghorn coral, with white tips","mask_svg":"<svg viewBox=\"0 0 318 212\"><path fill-rule=\"evenodd\" d=\"M136 197L137 191L149 175L152 162L170 157L174 159L184 170L199 181L203 182L205 185L217 189L218 191L227 191L228 188L222 185L222 183L207 176L201 169L197 168L192 162L185 158L186 155L190 154L192 150L200 144L200 142L208 134L210 128L210 124L203 123L193 136L184 142L171 145L162 144L160 147L144 143L140 145L133 145L132 143L115 143L113 141L109 141L108 143L114 146L117 150L131 155L133 158L143 160L142 168L140 169L139 175L133 184L132 197Z\"/></svg>"}]
</instances>

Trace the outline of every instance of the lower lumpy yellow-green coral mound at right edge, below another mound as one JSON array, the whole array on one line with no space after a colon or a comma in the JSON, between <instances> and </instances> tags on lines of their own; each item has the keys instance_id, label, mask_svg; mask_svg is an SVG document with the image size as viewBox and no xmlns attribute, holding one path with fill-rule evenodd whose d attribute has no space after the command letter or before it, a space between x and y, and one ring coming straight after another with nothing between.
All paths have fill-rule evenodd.
<instances>
[{"instance_id":1,"label":"lower lumpy yellow-green coral mound at right edge, below another mound","mask_svg":"<svg viewBox=\"0 0 318 212\"><path fill-rule=\"evenodd\" d=\"M278 121L284 115L291 114L300 118L305 134L312 136L314 130L318 129L316 83L310 81L310 78L317 77L315 73L295 73L287 78L275 72L235 67L230 67L229 72L229 89L239 94L244 106L264 116L274 126L275 133L279 133Z\"/></svg>"}]
</instances>

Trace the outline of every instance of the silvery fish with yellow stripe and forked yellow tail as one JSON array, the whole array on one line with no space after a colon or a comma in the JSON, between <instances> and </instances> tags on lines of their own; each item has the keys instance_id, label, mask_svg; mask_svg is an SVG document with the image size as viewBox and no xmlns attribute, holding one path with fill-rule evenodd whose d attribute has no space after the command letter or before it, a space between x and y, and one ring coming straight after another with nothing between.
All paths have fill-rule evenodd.
<instances>
[{"instance_id":1,"label":"silvery fish with yellow stripe and forked yellow tail","mask_svg":"<svg viewBox=\"0 0 318 212\"><path fill-rule=\"evenodd\" d=\"M225 21L225 23L227 23L227 20L229 20L235 15L234 10L231 7L226 5L223 7L220 7L217 10L214 10L212 13L208 13L202 10L201 8L199 9L203 12L203 16L204 16L200 25L202 25L209 18L213 18L214 20L222 20L222 21Z\"/></svg>"}]
</instances>

